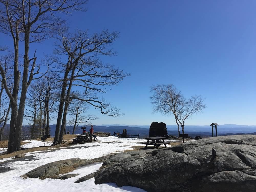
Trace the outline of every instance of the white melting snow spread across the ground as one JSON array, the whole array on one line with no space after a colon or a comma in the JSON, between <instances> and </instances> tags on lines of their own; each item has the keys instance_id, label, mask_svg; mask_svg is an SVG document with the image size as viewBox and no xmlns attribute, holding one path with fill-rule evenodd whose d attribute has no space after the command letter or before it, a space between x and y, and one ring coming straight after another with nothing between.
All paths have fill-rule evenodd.
<instances>
[{"instance_id":1,"label":"white melting snow spread across the ground","mask_svg":"<svg viewBox=\"0 0 256 192\"><path fill-rule=\"evenodd\" d=\"M124 150L131 150L132 146L145 146L140 142L144 142L144 139L135 138L117 138L117 137L98 137L97 141L76 144L78 148L67 148L63 147L55 151L35 151L25 153L26 156L34 155L34 160L26 161L15 161L5 164L5 167L11 168L13 170L4 172L0 174L0 186L1 191L144 191L131 186L117 187L114 183L107 183L101 185L94 184L94 178L89 179L85 182L74 183L78 178L88 175L90 173L96 172L100 167L99 164L92 164L84 167L80 167L70 173L78 173L79 175L66 180L60 179L44 179L40 180L38 178L27 178L23 179L21 175L35 169L41 165L59 161L62 159L69 159L74 157L79 157L81 159L93 159L108 155L110 153L121 153ZM180 140L177 140L180 142ZM177 142L176 141L176 142ZM23 145L22 147L38 147L42 146L41 141L28 141L30 143ZM172 140L175 142L175 140ZM52 142L45 142L46 145L50 146ZM1 151L6 151L6 148L0 149ZM1 153L0 151L0 153ZM10 160L12 158L0 159L0 162ZM1 165L0 165L1 168Z\"/></svg>"}]
</instances>

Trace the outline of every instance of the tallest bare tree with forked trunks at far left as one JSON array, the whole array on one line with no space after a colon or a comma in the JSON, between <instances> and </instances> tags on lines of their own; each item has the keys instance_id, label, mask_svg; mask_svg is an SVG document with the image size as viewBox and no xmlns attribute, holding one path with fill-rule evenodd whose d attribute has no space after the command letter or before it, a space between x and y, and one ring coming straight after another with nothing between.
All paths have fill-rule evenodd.
<instances>
[{"instance_id":1,"label":"tallest bare tree with forked trunks at far left","mask_svg":"<svg viewBox=\"0 0 256 192\"><path fill-rule=\"evenodd\" d=\"M45 76L50 70L50 67L47 66L44 72L40 71L40 65L36 64L35 54L33 58L29 58L30 43L40 42L50 37L54 29L60 28L65 23L65 20L59 17L59 13L68 14L72 9L82 10L81 6L84 3L86 0L0 0L0 30L13 38L14 45L14 86L12 93L8 89L4 69L0 65L5 91L11 101L12 108L8 153L20 150L23 114L29 84L33 79ZM19 41L24 41L23 64L18 61ZM19 65L22 66L23 73L18 107Z\"/></svg>"}]
</instances>

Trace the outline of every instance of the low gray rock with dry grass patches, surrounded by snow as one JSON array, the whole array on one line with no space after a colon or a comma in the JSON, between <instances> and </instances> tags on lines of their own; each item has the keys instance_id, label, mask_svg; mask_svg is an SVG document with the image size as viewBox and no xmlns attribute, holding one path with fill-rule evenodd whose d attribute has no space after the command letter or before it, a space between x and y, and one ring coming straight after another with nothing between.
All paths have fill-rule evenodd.
<instances>
[{"instance_id":1,"label":"low gray rock with dry grass patches, surrounded by snow","mask_svg":"<svg viewBox=\"0 0 256 192\"><path fill-rule=\"evenodd\" d=\"M99 161L94 159L87 160L80 158L65 159L37 167L26 173L24 176L29 178L39 177L40 179L58 178L59 174L68 173L74 170L76 167L85 166L92 163L99 163Z\"/></svg>"}]
</instances>

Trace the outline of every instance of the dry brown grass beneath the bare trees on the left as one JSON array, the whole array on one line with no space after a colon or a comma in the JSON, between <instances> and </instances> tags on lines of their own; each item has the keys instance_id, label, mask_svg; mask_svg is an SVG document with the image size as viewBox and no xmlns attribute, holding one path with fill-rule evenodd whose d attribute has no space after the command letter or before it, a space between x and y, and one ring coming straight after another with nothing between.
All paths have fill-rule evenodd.
<instances>
[{"instance_id":1,"label":"dry brown grass beneath the bare trees on the left","mask_svg":"<svg viewBox=\"0 0 256 192\"><path fill-rule=\"evenodd\" d=\"M21 153L21 154L24 154L24 153L28 153L28 152L35 152L35 151L46 151L46 150L55 150L55 148L58 148L58 147L68 147L70 146L70 143L72 143L73 141L69 141L73 138L76 138L77 135L64 135L63 136L63 141L67 141L66 143L62 143L62 144L58 144L58 145L55 145L55 146L46 146L46 147L31 147L31 148L28 148L28 150L25 150L25 151L15 151L13 153L5 153L5 154L2 154L0 155L0 159L3 159L3 158L10 158L10 157L14 157L15 155ZM37 140L37 141L41 141L41 139L34 139L34 140ZM53 141L54 140L54 137L50 137L50 138L47 138L46 141ZM21 142L21 145L24 145L26 143L29 143L29 142ZM4 147L2 147L4 146ZM8 146L8 141L0 141L0 148L6 148ZM49 148L52 148L52 149L49 149ZM57 150L57 149L56 149Z\"/></svg>"}]
</instances>

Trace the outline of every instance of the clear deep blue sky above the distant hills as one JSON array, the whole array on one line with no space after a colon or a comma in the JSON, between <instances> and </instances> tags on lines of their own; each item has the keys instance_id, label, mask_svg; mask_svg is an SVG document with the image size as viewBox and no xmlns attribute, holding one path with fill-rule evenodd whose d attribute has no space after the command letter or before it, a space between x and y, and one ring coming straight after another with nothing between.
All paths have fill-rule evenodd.
<instances>
[{"instance_id":1,"label":"clear deep blue sky above the distant hills","mask_svg":"<svg viewBox=\"0 0 256 192\"><path fill-rule=\"evenodd\" d=\"M120 31L118 56L102 60L132 73L104 95L125 115L99 115L93 124L175 124L172 116L152 114L149 99L151 85L172 83L185 97L206 98L207 108L187 125L256 125L255 7L255 1L90 1L86 13L68 18L70 26ZM49 54L52 41L34 44L31 53L35 48Z\"/></svg>"}]
</instances>

